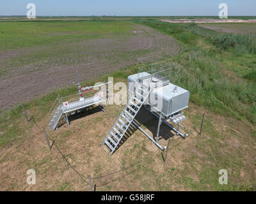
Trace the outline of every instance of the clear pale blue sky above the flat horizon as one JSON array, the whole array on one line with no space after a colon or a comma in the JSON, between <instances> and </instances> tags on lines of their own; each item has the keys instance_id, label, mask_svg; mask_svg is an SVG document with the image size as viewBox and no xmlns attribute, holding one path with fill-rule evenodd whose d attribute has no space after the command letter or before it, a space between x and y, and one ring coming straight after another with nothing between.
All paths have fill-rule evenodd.
<instances>
[{"instance_id":1,"label":"clear pale blue sky above the flat horizon","mask_svg":"<svg viewBox=\"0 0 256 204\"><path fill-rule=\"evenodd\" d=\"M37 16L216 16L220 3L228 15L256 15L256 0L0 0L0 15L26 15L28 3Z\"/></svg>"}]
</instances>

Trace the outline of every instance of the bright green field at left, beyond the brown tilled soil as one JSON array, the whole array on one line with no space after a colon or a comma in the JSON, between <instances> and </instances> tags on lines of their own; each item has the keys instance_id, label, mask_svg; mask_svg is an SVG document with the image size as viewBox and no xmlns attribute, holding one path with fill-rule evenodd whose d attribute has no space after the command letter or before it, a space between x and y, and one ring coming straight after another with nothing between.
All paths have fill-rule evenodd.
<instances>
[{"instance_id":1,"label":"bright green field at left, beyond the brown tilled soil","mask_svg":"<svg viewBox=\"0 0 256 204\"><path fill-rule=\"evenodd\" d=\"M106 34L125 34L131 23L122 21L73 22L1 22L0 50L58 45L88 38L102 38ZM127 33L129 34L129 33Z\"/></svg>"}]
</instances>

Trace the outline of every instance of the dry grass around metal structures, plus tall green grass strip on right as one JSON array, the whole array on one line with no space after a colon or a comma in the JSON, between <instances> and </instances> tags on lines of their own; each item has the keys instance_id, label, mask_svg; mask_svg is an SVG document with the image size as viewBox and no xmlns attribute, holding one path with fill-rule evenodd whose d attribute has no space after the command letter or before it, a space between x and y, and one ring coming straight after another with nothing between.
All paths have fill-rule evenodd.
<instances>
[{"instance_id":1,"label":"dry grass around metal structures, plus tall green grass strip on right","mask_svg":"<svg viewBox=\"0 0 256 204\"><path fill-rule=\"evenodd\" d=\"M244 77L253 70L255 55L221 50L206 38L189 32L185 25L153 20L136 22L171 34L184 47L182 54L173 57L172 82L191 92L183 124L189 137L182 140L163 127L161 144L167 145L171 138L165 165L164 155L136 129L109 157L99 144L122 106L108 106L106 114L93 110L90 114L84 112L84 117L77 115L71 120L70 127L63 123L53 133L47 129L49 136L86 178L129 167L111 177L93 179L97 191L255 191L255 83ZM110 75L115 77L115 82L126 82L128 75L136 73L136 68L132 66ZM83 85L92 85L107 77ZM63 96L74 94L77 87L58 89L25 103L29 118L33 117L40 127L47 127L45 115L58 92ZM199 136L203 113L204 131ZM145 115L147 112L142 110L136 119L148 133L156 134L156 119ZM44 135L33 120L25 122L22 106L1 113L0 144L1 190L88 191L88 185L67 165L56 148L51 152L47 150ZM147 157L149 154L152 155ZM29 168L36 170L35 186L26 184ZM218 184L220 169L228 171L228 185Z\"/></svg>"}]
</instances>

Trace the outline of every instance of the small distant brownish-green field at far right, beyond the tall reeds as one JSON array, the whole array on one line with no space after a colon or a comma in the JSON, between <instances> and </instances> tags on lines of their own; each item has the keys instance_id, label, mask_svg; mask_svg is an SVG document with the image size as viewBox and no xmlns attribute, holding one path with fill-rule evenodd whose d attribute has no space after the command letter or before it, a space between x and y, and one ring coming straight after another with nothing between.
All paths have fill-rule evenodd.
<instances>
[{"instance_id":1,"label":"small distant brownish-green field at far right, beyond the tall reeds","mask_svg":"<svg viewBox=\"0 0 256 204\"><path fill-rule=\"evenodd\" d=\"M200 24L199 26L223 33L256 33L256 24Z\"/></svg>"}]
</instances>

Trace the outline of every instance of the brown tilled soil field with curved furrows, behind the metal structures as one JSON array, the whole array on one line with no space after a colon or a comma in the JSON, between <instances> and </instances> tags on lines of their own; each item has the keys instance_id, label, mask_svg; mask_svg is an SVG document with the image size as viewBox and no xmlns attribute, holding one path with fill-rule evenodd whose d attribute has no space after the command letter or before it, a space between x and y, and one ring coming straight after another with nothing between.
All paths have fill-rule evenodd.
<instances>
[{"instance_id":1,"label":"brown tilled soil field with curved furrows, behind the metal structures","mask_svg":"<svg viewBox=\"0 0 256 204\"><path fill-rule=\"evenodd\" d=\"M70 31L72 32L72 31ZM68 38L70 33L47 33ZM63 41L54 45L0 51L0 110L35 98L56 87L95 78L125 66L137 64L139 57L172 56L182 49L171 36L144 25L132 24L120 34L90 33L88 39Z\"/></svg>"}]
</instances>

